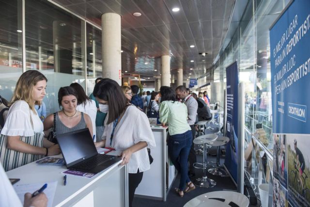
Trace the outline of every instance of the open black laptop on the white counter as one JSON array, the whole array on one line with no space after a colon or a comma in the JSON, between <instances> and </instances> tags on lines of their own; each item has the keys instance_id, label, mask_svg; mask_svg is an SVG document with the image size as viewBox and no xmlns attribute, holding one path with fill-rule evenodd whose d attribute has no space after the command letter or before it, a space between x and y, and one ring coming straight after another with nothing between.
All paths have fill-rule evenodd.
<instances>
[{"instance_id":1,"label":"open black laptop on the white counter","mask_svg":"<svg viewBox=\"0 0 310 207\"><path fill-rule=\"evenodd\" d=\"M70 170L99 173L121 160L117 156L98 154L88 128L57 134L57 141Z\"/></svg>"}]
</instances>

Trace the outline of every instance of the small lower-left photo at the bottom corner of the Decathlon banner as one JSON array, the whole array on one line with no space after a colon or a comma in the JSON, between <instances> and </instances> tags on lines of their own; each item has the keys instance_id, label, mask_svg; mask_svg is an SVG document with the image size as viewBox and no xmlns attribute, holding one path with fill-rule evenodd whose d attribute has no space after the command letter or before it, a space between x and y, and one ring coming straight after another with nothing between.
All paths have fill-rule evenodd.
<instances>
[{"instance_id":1,"label":"small lower-left photo at the bottom corner of the Decathlon banner","mask_svg":"<svg viewBox=\"0 0 310 207\"><path fill-rule=\"evenodd\" d=\"M287 190L275 177L273 182L272 207L288 207Z\"/></svg>"}]
</instances>

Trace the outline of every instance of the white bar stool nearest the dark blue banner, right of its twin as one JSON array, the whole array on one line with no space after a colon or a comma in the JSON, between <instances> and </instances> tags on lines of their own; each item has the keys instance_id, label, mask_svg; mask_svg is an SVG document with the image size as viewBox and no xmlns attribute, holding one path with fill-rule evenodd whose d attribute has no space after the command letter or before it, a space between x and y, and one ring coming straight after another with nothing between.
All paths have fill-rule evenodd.
<instances>
[{"instance_id":1,"label":"white bar stool nearest the dark blue banner, right of its twin","mask_svg":"<svg viewBox=\"0 0 310 207\"><path fill-rule=\"evenodd\" d=\"M223 146L225 144L229 143L229 138L224 136L219 136L217 139L213 142L210 142L209 145L216 146L217 147L217 162L216 167L210 168L208 172L212 175L220 175L220 176L226 176L227 173L223 169L223 167L219 164L219 148L220 146Z\"/></svg>"}]
</instances>

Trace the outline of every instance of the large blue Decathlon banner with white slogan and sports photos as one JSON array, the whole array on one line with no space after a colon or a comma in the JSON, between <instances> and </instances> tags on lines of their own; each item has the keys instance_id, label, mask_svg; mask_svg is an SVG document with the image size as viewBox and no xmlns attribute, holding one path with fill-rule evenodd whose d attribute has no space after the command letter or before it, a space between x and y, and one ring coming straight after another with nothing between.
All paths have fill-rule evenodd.
<instances>
[{"instance_id":1,"label":"large blue Decathlon banner with white slogan and sports photos","mask_svg":"<svg viewBox=\"0 0 310 207\"><path fill-rule=\"evenodd\" d=\"M310 206L309 29L310 0L294 0L270 29L273 183L293 207Z\"/></svg>"}]
</instances>

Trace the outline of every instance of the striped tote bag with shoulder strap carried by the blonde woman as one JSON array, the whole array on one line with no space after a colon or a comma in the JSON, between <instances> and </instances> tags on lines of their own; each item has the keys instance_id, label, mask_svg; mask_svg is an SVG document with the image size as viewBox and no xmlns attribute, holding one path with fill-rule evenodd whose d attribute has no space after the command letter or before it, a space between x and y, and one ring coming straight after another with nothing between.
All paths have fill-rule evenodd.
<instances>
[{"instance_id":1,"label":"striped tote bag with shoulder strap carried by the blonde woman","mask_svg":"<svg viewBox=\"0 0 310 207\"><path fill-rule=\"evenodd\" d=\"M31 115L30 115L30 121L31 126L33 128ZM22 142L31 144L33 146L43 147L44 134L34 132L33 136L29 137L20 136L19 139ZM45 157L44 155L33 155L9 149L6 147L7 140L8 138L6 135L0 134L0 161L2 163L5 172Z\"/></svg>"}]
</instances>

